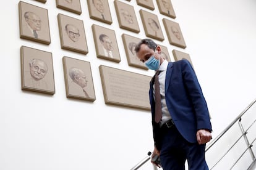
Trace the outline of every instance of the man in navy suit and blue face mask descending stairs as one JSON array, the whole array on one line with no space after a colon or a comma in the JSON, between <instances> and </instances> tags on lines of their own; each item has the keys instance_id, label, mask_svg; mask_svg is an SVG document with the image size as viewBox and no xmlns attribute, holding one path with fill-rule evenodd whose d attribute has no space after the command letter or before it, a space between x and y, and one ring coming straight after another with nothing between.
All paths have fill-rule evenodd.
<instances>
[{"instance_id":1,"label":"man in navy suit and blue face mask descending stairs","mask_svg":"<svg viewBox=\"0 0 256 170\"><path fill-rule=\"evenodd\" d=\"M159 73L151 80L149 92L155 142L152 158L160 156L164 170L185 169L186 160L190 170L208 169L205 144L211 140L210 116L189 61L167 62L151 39L142 39L135 51L140 61Z\"/></svg>"}]
</instances>

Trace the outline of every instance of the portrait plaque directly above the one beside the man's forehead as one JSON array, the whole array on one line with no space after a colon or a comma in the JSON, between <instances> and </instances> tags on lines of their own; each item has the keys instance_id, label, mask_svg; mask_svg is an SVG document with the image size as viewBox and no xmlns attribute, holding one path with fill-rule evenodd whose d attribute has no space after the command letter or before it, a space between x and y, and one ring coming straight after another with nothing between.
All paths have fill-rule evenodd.
<instances>
[{"instance_id":1,"label":"portrait plaque directly above the one beside the man's forehead","mask_svg":"<svg viewBox=\"0 0 256 170\"><path fill-rule=\"evenodd\" d=\"M114 1L119 27L139 33L140 28L135 15L134 7L121 1Z\"/></svg>"}]
</instances>

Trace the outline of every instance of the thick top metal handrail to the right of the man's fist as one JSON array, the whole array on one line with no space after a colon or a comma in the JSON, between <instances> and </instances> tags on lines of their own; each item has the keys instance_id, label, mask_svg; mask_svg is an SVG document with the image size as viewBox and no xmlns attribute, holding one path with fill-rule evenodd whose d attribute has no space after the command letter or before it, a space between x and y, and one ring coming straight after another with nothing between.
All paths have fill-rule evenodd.
<instances>
[{"instance_id":1,"label":"thick top metal handrail to the right of the man's fist","mask_svg":"<svg viewBox=\"0 0 256 170\"><path fill-rule=\"evenodd\" d=\"M250 103L250 105L247 108L245 108L245 110L242 111L242 113L238 115L237 118L234 119L234 121L231 124L229 124L229 126L226 127L226 129L224 129L223 132L221 132L215 139L211 140L211 142L207 145L205 152L207 152L213 146L213 144L215 144L239 119L241 119L242 115L244 115L244 113L247 110L249 110L249 108L252 107L252 105L254 105L255 102L256 102L256 99L254 99L254 101Z\"/></svg>"}]
</instances>

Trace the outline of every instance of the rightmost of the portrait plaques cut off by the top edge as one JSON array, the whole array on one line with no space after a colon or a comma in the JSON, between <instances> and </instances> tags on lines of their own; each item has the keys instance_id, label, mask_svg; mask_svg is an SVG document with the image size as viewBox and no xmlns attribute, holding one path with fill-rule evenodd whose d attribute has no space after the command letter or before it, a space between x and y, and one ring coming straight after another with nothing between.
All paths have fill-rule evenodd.
<instances>
[{"instance_id":1,"label":"rightmost of the portrait plaques cut off by the top edge","mask_svg":"<svg viewBox=\"0 0 256 170\"><path fill-rule=\"evenodd\" d=\"M176 18L176 15L173 9L173 4L171 4L171 0L160 0L156 2L158 4L160 14L166 15L171 18Z\"/></svg>"}]
</instances>

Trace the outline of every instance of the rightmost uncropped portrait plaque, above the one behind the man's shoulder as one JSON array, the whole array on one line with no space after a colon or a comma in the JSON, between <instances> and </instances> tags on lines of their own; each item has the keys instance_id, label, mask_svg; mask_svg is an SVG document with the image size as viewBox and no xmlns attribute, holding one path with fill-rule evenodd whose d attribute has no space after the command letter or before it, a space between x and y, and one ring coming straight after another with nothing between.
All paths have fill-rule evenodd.
<instances>
[{"instance_id":1,"label":"rightmost uncropped portrait plaque, above the one behind the man's shoulder","mask_svg":"<svg viewBox=\"0 0 256 170\"><path fill-rule=\"evenodd\" d=\"M186 48L186 43L181 33L181 28L179 27L179 23L173 22L171 20L167 20L163 18L164 28L166 30L166 34L169 39L169 43L171 45Z\"/></svg>"}]
</instances>

